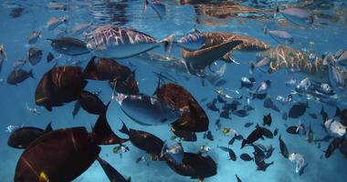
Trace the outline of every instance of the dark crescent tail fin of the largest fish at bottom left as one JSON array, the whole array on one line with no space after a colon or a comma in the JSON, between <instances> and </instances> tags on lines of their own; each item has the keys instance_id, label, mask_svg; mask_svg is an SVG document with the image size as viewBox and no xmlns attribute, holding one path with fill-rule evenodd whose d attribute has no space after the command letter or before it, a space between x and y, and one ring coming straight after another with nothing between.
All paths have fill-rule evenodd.
<instances>
[{"instance_id":1,"label":"dark crescent tail fin of the largest fish at bottom left","mask_svg":"<svg viewBox=\"0 0 347 182\"><path fill-rule=\"evenodd\" d=\"M91 138L99 145L121 144L127 141L127 139L116 136L110 128L109 122L106 118L106 112L109 106L110 102L100 114L91 133Z\"/></svg>"}]
</instances>

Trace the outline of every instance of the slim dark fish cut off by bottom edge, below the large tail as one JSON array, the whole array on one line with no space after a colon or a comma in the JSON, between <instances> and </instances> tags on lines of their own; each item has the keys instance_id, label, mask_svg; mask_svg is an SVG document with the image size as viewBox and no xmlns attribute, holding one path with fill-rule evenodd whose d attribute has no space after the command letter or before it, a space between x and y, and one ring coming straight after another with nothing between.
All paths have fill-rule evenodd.
<instances>
[{"instance_id":1,"label":"slim dark fish cut off by bottom edge, below the large tail","mask_svg":"<svg viewBox=\"0 0 347 182\"><path fill-rule=\"evenodd\" d=\"M105 172L106 176L109 178L112 182L131 182L131 177L128 179L125 179L120 172L118 172L114 167L110 166L110 164L103 160L100 157L97 157L97 160L102 167L103 171Z\"/></svg>"}]
</instances>

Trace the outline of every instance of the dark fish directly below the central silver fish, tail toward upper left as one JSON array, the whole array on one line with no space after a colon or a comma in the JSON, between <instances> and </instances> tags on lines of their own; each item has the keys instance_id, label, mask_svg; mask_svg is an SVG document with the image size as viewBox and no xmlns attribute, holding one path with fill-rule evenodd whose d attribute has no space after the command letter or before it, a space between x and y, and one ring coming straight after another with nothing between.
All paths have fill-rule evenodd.
<instances>
[{"instance_id":1,"label":"dark fish directly below the central silver fish, tail toward upper left","mask_svg":"<svg viewBox=\"0 0 347 182\"><path fill-rule=\"evenodd\" d=\"M120 131L129 136L131 144L134 147L138 147L148 154L153 155L153 157L160 159L163 148L162 139L145 131L128 129L124 123Z\"/></svg>"}]
</instances>

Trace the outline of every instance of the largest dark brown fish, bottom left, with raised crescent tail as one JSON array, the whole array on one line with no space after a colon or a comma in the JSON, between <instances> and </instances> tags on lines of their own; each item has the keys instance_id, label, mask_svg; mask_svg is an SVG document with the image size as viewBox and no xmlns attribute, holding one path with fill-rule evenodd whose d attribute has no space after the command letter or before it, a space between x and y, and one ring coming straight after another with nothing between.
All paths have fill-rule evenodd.
<instances>
[{"instance_id":1,"label":"largest dark brown fish, bottom left, with raised crescent tail","mask_svg":"<svg viewBox=\"0 0 347 182\"><path fill-rule=\"evenodd\" d=\"M49 181L72 181L99 157L99 145L125 141L110 129L105 109L90 134L85 127L71 127L51 131L34 140L18 160L14 181L39 181L37 174L42 172Z\"/></svg>"}]
</instances>

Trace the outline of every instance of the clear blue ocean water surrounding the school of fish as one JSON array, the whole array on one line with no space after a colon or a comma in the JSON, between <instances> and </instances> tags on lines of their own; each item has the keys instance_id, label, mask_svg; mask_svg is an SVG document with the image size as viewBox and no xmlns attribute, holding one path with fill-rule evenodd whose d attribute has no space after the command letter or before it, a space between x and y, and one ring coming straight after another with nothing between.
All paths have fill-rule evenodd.
<instances>
[{"instance_id":1,"label":"clear blue ocean water surrounding the school of fish","mask_svg":"<svg viewBox=\"0 0 347 182\"><path fill-rule=\"evenodd\" d=\"M7 139L10 136L9 132L5 129L7 126L37 126L44 128L49 122L52 122L54 129L73 127L73 126L86 126L90 128L98 116L90 115L84 110L79 111L79 115L74 119L72 117L72 109L74 102L65 104L64 106L54 107L52 112L48 112L44 107L36 106L35 104L35 90L40 78L54 66L54 63L47 63L46 56L48 52L53 53L58 57L58 53L52 50L50 41L47 38L55 38L59 33L59 28L66 28L71 30L75 25L92 22L91 27L95 28L99 25L120 25L124 27L131 27L145 34L152 35L158 40L163 39L167 35L175 33L176 35L184 35L192 31L196 26L199 31L220 31L230 32L238 35L248 35L258 38L276 47L279 43L276 42L269 35L263 33L264 25L268 25L271 29L281 29L289 32L294 37L294 43L289 45L292 48L300 51L309 50L317 56L321 56L327 52L335 53L338 50L346 49L347 36L347 5L344 1L326 1L328 5L306 7L311 14L330 15L330 18L318 17L311 27L300 27L293 25L290 22L280 23L284 20L283 17L273 18L273 13L276 9L274 2L266 1L268 4L258 5L252 3L253 1L245 1L240 5L247 7L257 8L258 13L253 14L231 14L231 9L227 9L227 3L222 4L220 1L174 1L163 0L166 5L166 15L163 20L160 20L154 11L149 7L147 11L142 11L143 2L141 0L113 0L113 1L89 1L89 0L71 0L71 1L54 1L59 5L66 5L65 10L57 10L49 7L50 1L47 0L27 0L27 1L0 1L0 45L5 46L7 60L5 61L0 77L6 80L6 77L13 69L13 64L16 60L25 59L29 47L38 47L43 50L44 56L37 66L23 66L24 69L33 69L35 78L28 78L25 82L18 86L11 86L3 83L0 86L0 181L13 181L16 170L16 163L23 150L15 149L7 146ZM184 4L186 2L186 4ZM306 1L310 2L310 1ZM280 1L281 5L302 5L303 1ZM205 11L198 10L203 8L204 5L219 5L219 8L214 6L211 11L218 11L219 16L208 15L208 8ZM231 5L232 3L229 4ZM23 8L23 11L18 14L18 17L13 17L14 12L18 13L18 8ZM223 8L225 7L225 9ZM215 9L214 9L215 8ZM224 11L224 12L223 12ZM205 15L204 13L205 12ZM11 16L12 15L12 16ZM47 30L47 21L53 16L62 17L68 15L68 23L59 25L53 31ZM35 45L27 44L28 35L34 30L42 30L42 37L37 40ZM70 35L65 35L70 36ZM83 40L83 35L77 35L76 38ZM152 51L155 54L163 54L163 49L157 48ZM257 54L254 52L244 53L235 52L232 57L241 63L240 66L227 64L226 73L219 77L219 79L226 80L226 84L221 86L223 88L238 90L244 99L240 100L242 105L246 104L246 97L248 91L246 88L240 89L241 76L250 76L248 73L248 61L256 61ZM172 56L180 57L180 49L174 47ZM61 56L58 58L58 65L67 65L69 59L72 61L83 61L82 67L86 66L90 54L83 56ZM139 82L141 93L152 95L152 92L157 86L157 76L152 72L165 72L173 75L179 85L184 86L202 106L209 118L209 130L215 137L214 141L204 139L204 133L197 133L197 141L194 143L183 142L184 151L197 153L200 146L205 145L211 147L208 155L211 156L217 164L217 174L214 177L205 178L206 182L229 182L237 181L235 175L240 177L242 181L346 181L347 160L342 156L339 149L329 157L324 157L324 150L328 147L328 142L321 142L321 148L318 148L315 143L309 143L306 136L293 136L286 132L287 126L297 125L299 119L289 118L287 121L282 119L283 112L289 112L291 104L281 105L279 102L274 102L279 106L281 113L275 112L263 106L264 100L250 100L250 105L255 107L255 110L249 112L249 116L239 117L230 115L231 119L220 118L219 113L213 112L206 107L208 102L216 98L217 94L214 91L214 83L205 80L205 85L202 84L204 78L189 75L175 71L165 65L158 63L153 64L148 59L139 57L131 57L118 60L124 66L131 65L136 67L136 79ZM212 66L217 69L223 66L222 61L216 61L216 65ZM131 67L134 69L134 67ZM206 73L210 71L206 68ZM280 70L276 73L267 74L255 71L253 76L257 80L256 86L263 80L270 80L271 87L268 90L268 96L276 98L276 96L289 96L292 87L285 86L285 81L294 77L298 81L305 76L299 73L289 74L287 70ZM327 76L328 77L328 76ZM255 87L256 87L255 86ZM111 89L105 82L89 80L88 86L85 88L89 91L102 90L100 99L107 103L110 100ZM337 106L340 108L347 107L347 102L344 95L346 91L339 93L337 99ZM201 102L203 98L207 101ZM296 101L306 102L307 96L293 95ZM228 102L231 102L228 100ZM311 126L316 138L326 136L325 131L321 127L321 106L329 114L329 118L335 115L336 106L329 106L322 104L313 99L309 100L310 108L306 111L304 116L300 117L301 123L305 126ZM40 115L30 113L26 109L28 106L37 107ZM217 104L222 107L221 104ZM239 156L242 153L252 154L252 147L245 147L240 149L241 142L236 141L232 148L237 154L237 161L228 160L228 154L218 146L228 146L227 143L232 136L225 136L221 130L216 130L215 121L221 119L223 127L231 127L243 136L248 136L254 126L245 127L247 122L254 122L262 125L263 116L271 113L272 125L269 127L272 131L279 128L279 135L286 142L289 148L289 153L300 153L305 158L305 163L308 167L305 168L304 174L299 176L295 173L295 164L281 156L279 149L279 136L273 139L259 140L258 143L268 146L272 145L275 150L271 157L266 159L267 162L274 161L274 165L268 167L266 171L257 170L254 161L243 161ZM314 119L309 116L314 113L318 116ZM119 104L116 101L111 102L108 109L107 118L112 129L120 136L117 130L121 128L121 121L126 121L127 126L131 128L141 129L152 133L163 140L170 141L170 137L174 134L170 131L170 126L140 126L131 121L131 119L123 114ZM125 136L124 136L125 137ZM54 144L52 144L54 145ZM100 157L107 160L113 167L115 167L124 177L131 177L131 181L142 182L185 182L197 181L197 179L190 179L190 177L182 177L174 173L174 171L167 167L164 162L149 161L148 165L145 163L136 164L135 160L138 157L148 154L144 151L133 147L131 143L126 143L130 147L130 151L124 153L120 157L112 152L114 146L102 146ZM77 177L74 181L95 182L95 181L109 181L99 163L95 162L87 171Z\"/></svg>"}]
</instances>

